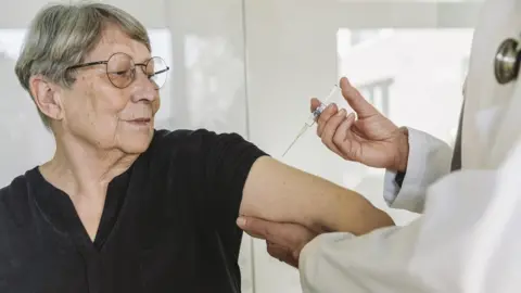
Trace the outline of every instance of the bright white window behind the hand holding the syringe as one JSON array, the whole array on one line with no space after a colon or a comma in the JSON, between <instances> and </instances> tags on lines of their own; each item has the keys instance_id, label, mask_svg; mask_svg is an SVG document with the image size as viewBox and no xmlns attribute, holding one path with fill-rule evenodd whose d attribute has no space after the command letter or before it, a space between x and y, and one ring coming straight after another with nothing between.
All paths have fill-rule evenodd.
<instances>
[{"instance_id":1,"label":"bright white window behind the hand holding the syringe","mask_svg":"<svg viewBox=\"0 0 521 293\"><path fill-rule=\"evenodd\" d=\"M363 47L352 46L346 37L356 31L340 29L338 34L340 75L347 76L396 124L450 143L472 29L392 29L386 37Z\"/></svg>"}]
</instances>

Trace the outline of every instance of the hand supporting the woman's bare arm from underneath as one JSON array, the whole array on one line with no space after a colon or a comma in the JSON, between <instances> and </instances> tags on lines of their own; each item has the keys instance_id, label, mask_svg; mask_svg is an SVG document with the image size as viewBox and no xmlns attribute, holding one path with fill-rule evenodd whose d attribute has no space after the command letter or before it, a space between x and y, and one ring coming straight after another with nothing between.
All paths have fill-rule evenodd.
<instances>
[{"instance_id":1,"label":"hand supporting the woman's bare arm from underneath","mask_svg":"<svg viewBox=\"0 0 521 293\"><path fill-rule=\"evenodd\" d=\"M240 217L237 225L249 235L266 240L268 254L298 268L302 249L318 234L304 226Z\"/></svg>"}]
</instances>

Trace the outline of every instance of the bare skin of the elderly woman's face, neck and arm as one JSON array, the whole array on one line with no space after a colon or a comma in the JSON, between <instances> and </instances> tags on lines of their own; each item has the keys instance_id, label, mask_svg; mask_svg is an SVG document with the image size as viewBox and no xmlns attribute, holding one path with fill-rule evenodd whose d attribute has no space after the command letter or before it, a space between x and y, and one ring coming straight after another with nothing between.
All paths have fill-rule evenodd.
<instances>
[{"instance_id":1,"label":"bare skin of the elderly woman's face, neck and arm","mask_svg":"<svg viewBox=\"0 0 521 293\"><path fill-rule=\"evenodd\" d=\"M107 26L85 62L107 60L115 52L136 63L150 59L147 47L117 26ZM42 76L30 79L37 105L52 120L54 157L40 167L43 177L69 195L91 240L100 224L106 189L131 166L153 136L160 97L142 71L125 89L114 87L104 65L77 72L66 89ZM136 118L150 118L136 124ZM356 192L270 158L258 158L243 190L240 214L276 222L292 222L314 231L355 234L394 225L382 211Z\"/></svg>"}]
</instances>

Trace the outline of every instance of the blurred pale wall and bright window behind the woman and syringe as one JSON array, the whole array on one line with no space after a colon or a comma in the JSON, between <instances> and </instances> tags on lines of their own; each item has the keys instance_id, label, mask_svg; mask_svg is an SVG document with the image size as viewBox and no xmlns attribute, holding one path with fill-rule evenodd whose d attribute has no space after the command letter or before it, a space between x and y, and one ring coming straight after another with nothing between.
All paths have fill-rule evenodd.
<instances>
[{"instance_id":1,"label":"blurred pale wall and bright window behind the woman and syringe","mask_svg":"<svg viewBox=\"0 0 521 293\"><path fill-rule=\"evenodd\" d=\"M144 23L153 54L171 68L158 128L239 132L290 165L361 192L399 225L417 217L389 211L383 170L342 161L315 129L280 155L308 116L309 98L323 98L341 76L397 125L452 144L481 1L103 2ZM3 1L0 10L0 187L54 151L13 71L28 23L47 3ZM297 271L271 259L262 241L244 238L241 268L245 293L302 292Z\"/></svg>"}]
</instances>

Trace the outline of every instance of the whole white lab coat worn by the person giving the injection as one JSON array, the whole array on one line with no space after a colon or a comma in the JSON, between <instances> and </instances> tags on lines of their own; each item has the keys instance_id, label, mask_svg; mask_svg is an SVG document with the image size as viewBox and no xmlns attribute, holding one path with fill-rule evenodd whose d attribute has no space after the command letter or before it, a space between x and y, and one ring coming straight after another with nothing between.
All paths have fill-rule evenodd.
<instances>
[{"instance_id":1,"label":"whole white lab coat worn by the person giving the injection","mask_svg":"<svg viewBox=\"0 0 521 293\"><path fill-rule=\"evenodd\" d=\"M404 184L387 184L385 196L423 215L361 237L317 237L301 254L305 293L521 292L521 80L500 86L493 72L499 43L520 34L521 0L484 4L466 85L462 169L448 174L448 146L412 131Z\"/></svg>"}]
</instances>

